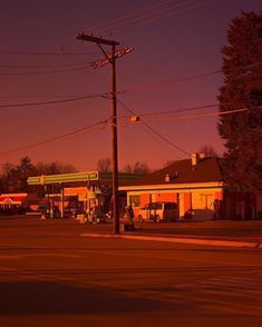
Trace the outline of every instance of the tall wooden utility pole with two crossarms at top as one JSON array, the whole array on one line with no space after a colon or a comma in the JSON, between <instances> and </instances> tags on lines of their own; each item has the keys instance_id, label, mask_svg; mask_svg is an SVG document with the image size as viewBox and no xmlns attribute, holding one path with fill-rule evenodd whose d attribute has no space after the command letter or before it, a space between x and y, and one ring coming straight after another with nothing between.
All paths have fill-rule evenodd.
<instances>
[{"instance_id":1,"label":"tall wooden utility pole with two crossarms at top","mask_svg":"<svg viewBox=\"0 0 262 327\"><path fill-rule=\"evenodd\" d=\"M106 40L103 38L97 38L94 36L86 36L80 33L77 36L78 40L89 41L97 43L101 52L105 54L105 58L99 59L95 62L91 62L93 68L100 68L107 63L111 65L111 169L113 169L113 219L114 219L114 232L119 234L119 209L118 209L118 149L117 149L117 103L116 103L116 58L119 58L130 51L133 48L124 48L116 51L116 46L119 46L119 42L113 40ZM108 54L101 44L110 46L111 53Z\"/></svg>"}]
</instances>

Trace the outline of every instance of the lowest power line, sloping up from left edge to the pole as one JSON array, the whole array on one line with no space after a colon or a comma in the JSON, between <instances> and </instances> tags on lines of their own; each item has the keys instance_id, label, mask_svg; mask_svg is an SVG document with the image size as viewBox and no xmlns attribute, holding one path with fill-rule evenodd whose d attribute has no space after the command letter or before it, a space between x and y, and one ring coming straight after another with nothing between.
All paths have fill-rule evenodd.
<instances>
[{"instance_id":1,"label":"lowest power line, sloping up from left edge to the pole","mask_svg":"<svg viewBox=\"0 0 262 327\"><path fill-rule=\"evenodd\" d=\"M54 138L45 140L45 141L27 145L27 146L19 147L19 148L16 148L16 149L11 149L11 150L7 150L7 151L2 151L2 152L0 152L0 156L10 155L10 153L13 153L13 152L18 152L18 151L21 151L21 150L27 150L27 149L30 149L30 148L36 148L36 147L39 147L39 146L45 146L45 145L52 143L52 142L64 141L64 140L67 140L69 138L72 138L72 137L90 132L90 131L93 131L95 129L98 129L98 127L99 128L105 127L108 123L108 121L109 121L109 119L104 120L104 121L99 121L99 122L95 122L93 125L89 125L89 126L83 127L80 129L77 129L77 130L74 130L74 131L70 131L70 132L54 137Z\"/></svg>"}]
</instances>

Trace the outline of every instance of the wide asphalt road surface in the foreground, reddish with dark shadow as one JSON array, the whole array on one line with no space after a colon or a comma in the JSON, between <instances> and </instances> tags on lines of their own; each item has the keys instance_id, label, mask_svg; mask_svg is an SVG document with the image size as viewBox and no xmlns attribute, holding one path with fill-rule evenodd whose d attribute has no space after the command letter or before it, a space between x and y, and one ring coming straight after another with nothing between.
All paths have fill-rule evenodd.
<instances>
[{"instance_id":1,"label":"wide asphalt road surface in the foreground, reddish with dark shadow","mask_svg":"<svg viewBox=\"0 0 262 327\"><path fill-rule=\"evenodd\" d=\"M262 250L0 219L0 326L262 326Z\"/></svg>"}]
</instances>

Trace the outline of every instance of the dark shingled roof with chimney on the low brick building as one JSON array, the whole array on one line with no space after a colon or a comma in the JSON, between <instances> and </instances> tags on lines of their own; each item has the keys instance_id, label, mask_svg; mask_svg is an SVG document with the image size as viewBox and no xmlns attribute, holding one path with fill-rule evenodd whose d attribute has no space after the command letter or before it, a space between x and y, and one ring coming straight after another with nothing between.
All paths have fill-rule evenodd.
<instances>
[{"instance_id":1,"label":"dark shingled roof with chimney on the low brick building","mask_svg":"<svg viewBox=\"0 0 262 327\"><path fill-rule=\"evenodd\" d=\"M166 180L169 177L169 181ZM134 180L129 186L196 184L223 181L217 158L201 159L192 166L191 159L174 161L169 166Z\"/></svg>"}]
</instances>

